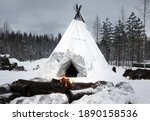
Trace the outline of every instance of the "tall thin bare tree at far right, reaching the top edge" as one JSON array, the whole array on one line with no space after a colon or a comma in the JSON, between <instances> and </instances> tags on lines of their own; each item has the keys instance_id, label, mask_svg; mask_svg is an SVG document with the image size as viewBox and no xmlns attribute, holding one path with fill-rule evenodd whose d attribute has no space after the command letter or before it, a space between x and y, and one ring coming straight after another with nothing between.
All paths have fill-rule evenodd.
<instances>
[{"instance_id":1,"label":"tall thin bare tree at far right, reaching the top edge","mask_svg":"<svg viewBox=\"0 0 150 121\"><path fill-rule=\"evenodd\" d=\"M150 18L150 0L141 0L142 7L136 7L136 9L140 12L142 18L143 18L143 25L144 25L144 32L145 37L143 41L143 62L144 62L144 68L145 68L145 43L147 40L146 37L146 22Z\"/></svg>"}]
</instances>

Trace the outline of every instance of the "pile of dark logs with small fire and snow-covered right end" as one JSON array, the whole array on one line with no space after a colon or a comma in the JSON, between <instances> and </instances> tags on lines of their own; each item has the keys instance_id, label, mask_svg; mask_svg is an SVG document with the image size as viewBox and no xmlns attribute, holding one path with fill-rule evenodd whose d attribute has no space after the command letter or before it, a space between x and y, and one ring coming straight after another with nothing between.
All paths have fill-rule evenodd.
<instances>
[{"instance_id":1,"label":"pile of dark logs with small fire and snow-covered right end","mask_svg":"<svg viewBox=\"0 0 150 121\"><path fill-rule=\"evenodd\" d=\"M56 79L51 82L41 82L41 79L39 81L19 79L12 84L0 86L0 103L10 103L14 99L19 100L18 97L32 98L36 95L57 93L65 94L68 103L72 103L75 100L80 100L84 95L94 95L105 89L111 91L114 88L121 89L123 92L134 93L127 82L121 82L114 86L112 82L106 81L97 81L96 83L70 83L68 80Z\"/></svg>"}]
</instances>

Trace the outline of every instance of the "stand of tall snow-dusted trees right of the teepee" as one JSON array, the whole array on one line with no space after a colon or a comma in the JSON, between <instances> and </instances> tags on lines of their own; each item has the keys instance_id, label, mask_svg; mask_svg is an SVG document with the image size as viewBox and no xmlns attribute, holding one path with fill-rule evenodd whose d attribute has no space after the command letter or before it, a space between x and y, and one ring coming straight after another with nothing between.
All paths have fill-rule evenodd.
<instances>
[{"instance_id":1,"label":"stand of tall snow-dusted trees right of the teepee","mask_svg":"<svg viewBox=\"0 0 150 121\"><path fill-rule=\"evenodd\" d=\"M100 23L97 16L94 22L94 35L98 47L109 64L129 66L150 60L150 41L146 41L143 47L145 37L147 40L144 24L134 12L126 21L123 17L119 19L114 26L109 18Z\"/></svg>"}]
</instances>

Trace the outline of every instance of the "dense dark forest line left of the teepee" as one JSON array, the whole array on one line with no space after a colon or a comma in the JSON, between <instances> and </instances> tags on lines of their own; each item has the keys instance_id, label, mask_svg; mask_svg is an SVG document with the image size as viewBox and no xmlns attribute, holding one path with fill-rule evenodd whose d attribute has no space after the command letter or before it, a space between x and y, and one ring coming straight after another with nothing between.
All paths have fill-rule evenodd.
<instances>
[{"instance_id":1,"label":"dense dark forest line left of the teepee","mask_svg":"<svg viewBox=\"0 0 150 121\"><path fill-rule=\"evenodd\" d=\"M11 58L20 61L46 58L49 57L60 39L61 33L55 37L53 34L35 35L14 32L5 22L0 27L0 54L9 54Z\"/></svg>"}]
</instances>

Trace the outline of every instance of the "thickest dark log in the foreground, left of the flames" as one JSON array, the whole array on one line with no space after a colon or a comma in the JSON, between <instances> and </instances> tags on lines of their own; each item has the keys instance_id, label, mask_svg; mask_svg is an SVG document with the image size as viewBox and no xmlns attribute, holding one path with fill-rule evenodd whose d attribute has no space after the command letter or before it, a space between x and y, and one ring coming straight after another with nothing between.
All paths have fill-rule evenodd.
<instances>
[{"instance_id":1,"label":"thickest dark log in the foreground, left of the flames","mask_svg":"<svg viewBox=\"0 0 150 121\"><path fill-rule=\"evenodd\" d=\"M11 92L19 92L23 96L33 96L38 94L64 93L67 87L58 81L34 82L19 79L10 85Z\"/></svg>"}]
</instances>

